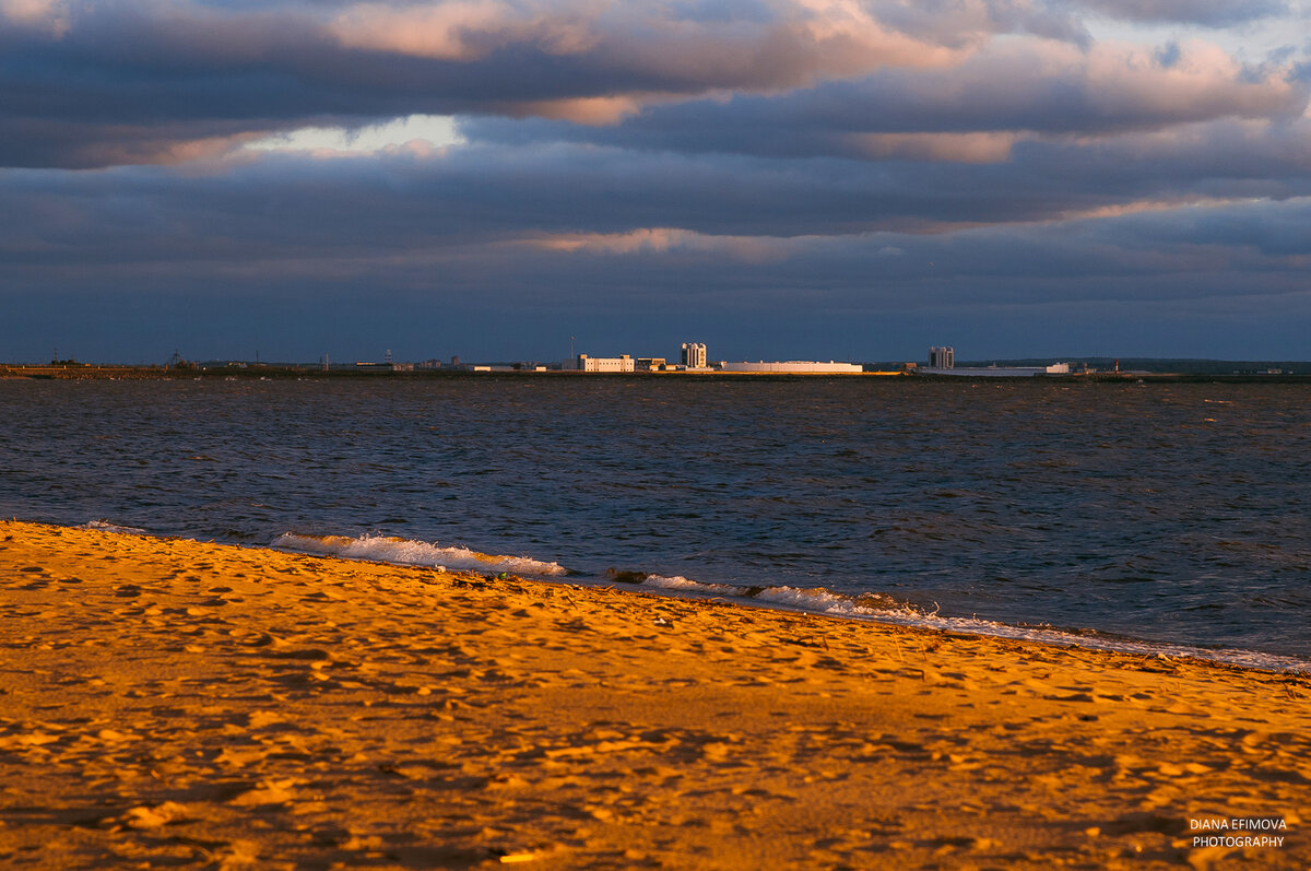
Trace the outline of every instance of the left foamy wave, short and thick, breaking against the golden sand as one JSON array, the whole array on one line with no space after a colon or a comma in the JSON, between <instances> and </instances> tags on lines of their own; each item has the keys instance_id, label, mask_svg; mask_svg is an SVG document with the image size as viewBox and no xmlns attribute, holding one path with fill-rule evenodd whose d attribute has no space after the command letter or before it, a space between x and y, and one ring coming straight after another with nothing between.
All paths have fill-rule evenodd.
<instances>
[{"instance_id":1,"label":"left foamy wave, short and thick, breaking against the golden sand","mask_svg":"<svg viewBox=\"0 0 1311 871\"><path fill-rule=\"evenodd\" d=\"M527 556L481 554L467 547L440 547L435 542L416 542L385 535L299 535L283 533L271 547L298 554L341 556L399 565L430 565L434 568L471 569L476 572L515 572L518 575L557 576L569 569L560 563L543 563Z\"/></svg>"}]
</instances>

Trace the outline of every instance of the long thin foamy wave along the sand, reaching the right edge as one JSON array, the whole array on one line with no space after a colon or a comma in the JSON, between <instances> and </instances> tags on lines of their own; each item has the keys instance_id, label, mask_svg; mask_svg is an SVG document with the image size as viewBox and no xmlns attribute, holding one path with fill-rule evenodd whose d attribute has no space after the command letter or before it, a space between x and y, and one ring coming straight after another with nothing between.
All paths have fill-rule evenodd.
<instances>
[{"instance_id":1,"label":"long thin foamy wave along the sand, reaching the right edge","mask_svg":"<svg viewBox=\"0 0 1311 871\"><path fill-rule=\"evenodd\" d=\"M1024 626L999 623L978 617L944 617L937 611L924 611L909 602L898 602L882 593L838 593L823 586L739 586L735 584L704 584L682 575L642 575L640 572L610 572L610 578L638 586L671 590L697 597L730 597L747 602L767 602L772 606L810 614L827 614L878 623L894 623L964 635L987 635L1019 641L1038 641L1058 647L1083 647L1116 653L1156 657L1193 657L1262 669L1266 672L1311 672L1311 660L1280 656L1238 648L1210 648L1168 641L1139 641L1096 632L1095 630L1061 630L1050 626Z\"/></svg>"}]
</instances>

